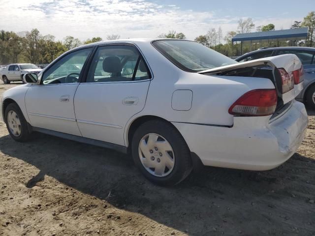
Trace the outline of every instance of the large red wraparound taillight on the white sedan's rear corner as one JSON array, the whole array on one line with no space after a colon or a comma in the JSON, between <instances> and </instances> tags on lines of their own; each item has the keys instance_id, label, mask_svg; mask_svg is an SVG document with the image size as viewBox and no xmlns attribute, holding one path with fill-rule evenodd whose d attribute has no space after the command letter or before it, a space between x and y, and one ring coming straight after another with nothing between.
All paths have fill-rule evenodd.
<instances>
[{"instance_id":1,"label":"large red wraparound taillight on the white sedan's rear corner","mask_svg":"<svg viewBox=\"0 0 315 236\"><path fill-rule=\"evenodd\" d=\"M276 107L276 89L255 89L237 99L228 113L243 117L269 116L275 112Z\"/></svg>"}]
</instances>

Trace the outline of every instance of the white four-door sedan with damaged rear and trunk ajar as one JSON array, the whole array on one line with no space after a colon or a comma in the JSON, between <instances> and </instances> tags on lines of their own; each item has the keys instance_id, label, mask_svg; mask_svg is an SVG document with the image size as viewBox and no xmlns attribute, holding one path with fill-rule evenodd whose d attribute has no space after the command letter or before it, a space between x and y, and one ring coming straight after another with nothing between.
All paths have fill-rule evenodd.
<instances>
[{"instance_id":1,"label":"white four-door sedan with damaged rear and trunk ajar","mask_svg":"<svg viewBox=\"0 0 315 236\"><path fill-rule=\"evenodd\" d=\"M186 40L97 42L26 74L0 109L16 141L37 131L130 151L145 177L171 185L200 163L261 171L288 160L308 122L294 99L302 71L295 55L238 63Z\"/></svg>"}]
</instances>

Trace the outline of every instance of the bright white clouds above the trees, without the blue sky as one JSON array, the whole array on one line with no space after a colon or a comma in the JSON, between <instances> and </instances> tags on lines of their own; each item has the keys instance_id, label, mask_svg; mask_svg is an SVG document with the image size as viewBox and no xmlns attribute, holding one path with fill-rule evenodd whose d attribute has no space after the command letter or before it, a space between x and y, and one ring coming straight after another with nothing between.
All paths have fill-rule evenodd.
<instances>
[{"instance_id":1,"label":"bright white clouds above the trees, without the blue sky","mask_svg":"<svg viewBox=\"0 0 315 236\"><path fill-rule=\"evenodd\" d=\"M108 34L121 38L157 37L174 29L188 39L221 26L237 29L237 18L218 16L216 12L182 10L178 5L159 5L147 0L4 0L0 4L0 29L25 31L39 29L57 39L66 35L81 40ZM242 16L240 16L242 17ZM274 23L288 28L291 19L253 19L256 26Z\"/></svg>"}]
</instances>

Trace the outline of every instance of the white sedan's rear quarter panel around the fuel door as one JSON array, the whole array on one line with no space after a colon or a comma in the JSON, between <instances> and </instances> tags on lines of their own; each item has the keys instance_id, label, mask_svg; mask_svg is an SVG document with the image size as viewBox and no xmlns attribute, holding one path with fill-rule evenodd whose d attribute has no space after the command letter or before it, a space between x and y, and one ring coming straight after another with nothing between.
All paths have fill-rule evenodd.
<instances>
[{"instance_id":1,"label":"white sedan's rear quarter panel around the fuel door","mask_svg":"<svg viewBox=\"0 0 315 236\"><path fill-rule=\"evenodd\" d=\"M151 46L151 45L150 45ZM153 48L153 46L151 46ZM252 89L274 89L265 78L209 76L185 72L166 59L156 49L145 45L140 49L153 71L144 109L130 118L125 127L125 144L130 124L142 116L157 116L170 122L189 122L213 125L233 125L229 107L244 93ZM188 111L172 108L175 90L192 91L192 105Z\"/></svg>"}]
</instances>

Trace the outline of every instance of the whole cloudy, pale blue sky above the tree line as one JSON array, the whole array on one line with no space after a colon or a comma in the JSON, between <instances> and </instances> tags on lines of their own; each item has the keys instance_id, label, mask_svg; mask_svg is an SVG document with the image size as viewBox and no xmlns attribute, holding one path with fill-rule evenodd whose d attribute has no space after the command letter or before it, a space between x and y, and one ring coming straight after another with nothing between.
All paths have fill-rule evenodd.
<instances>
[{"instance_id":1,"label":"whole cloudy, pale blue sky above the tree line","mask_svg":"<svg viewBox=\"0 0 315 236\"><path fill-rule=\"evenodd\" d=\"M314 10L314 0L0 0L0 29L37 28L57 39L80 40L108 34L157 37L174 29L194 39L219 26L223 34L236 30L241 17L252 17L256 26L288 29Z\"/></svg>"}]
</instances>

